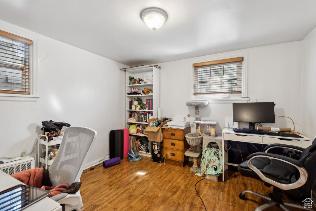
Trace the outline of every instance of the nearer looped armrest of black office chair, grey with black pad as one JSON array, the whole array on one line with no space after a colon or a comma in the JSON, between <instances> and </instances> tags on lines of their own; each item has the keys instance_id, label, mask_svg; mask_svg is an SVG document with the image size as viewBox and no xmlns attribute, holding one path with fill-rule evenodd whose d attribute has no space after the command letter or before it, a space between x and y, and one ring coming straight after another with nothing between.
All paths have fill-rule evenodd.
<instances>
[{"instance_id":1,"label":"nearer looped armrest of black office chair, grey with black pad","mask_svg":"<svg viewBox=\"0 0 316 211\"><path fill-rule=\"evenodd\" d=\"M263 158L269 158L269 159L275 159L275 160L280 160L283 161L285 163L288 163L292 166L294 166L300 174L300 178L297 179L297 181L295 183L291 183L291 184L283 184L283 183L279 183L271 178L266 177L257 167L253 166L251 164L252 159L254 158L259 158L259 157L263 157ZM305 168L303 167L303 163L295 160L293 158L289 158L283 155L277 155L277 154L271 154L271 153L253 153L251 155L249 155L247 157L247 165L248 167L254 171L256 174L258 174L258 176L266 183L271 184L274 187L278 187L282 190L292 190L292 189L296 189L301 187L302 185L304 185L307 181L307 172L305 170Z\"/></svg>"}]
</instances>

